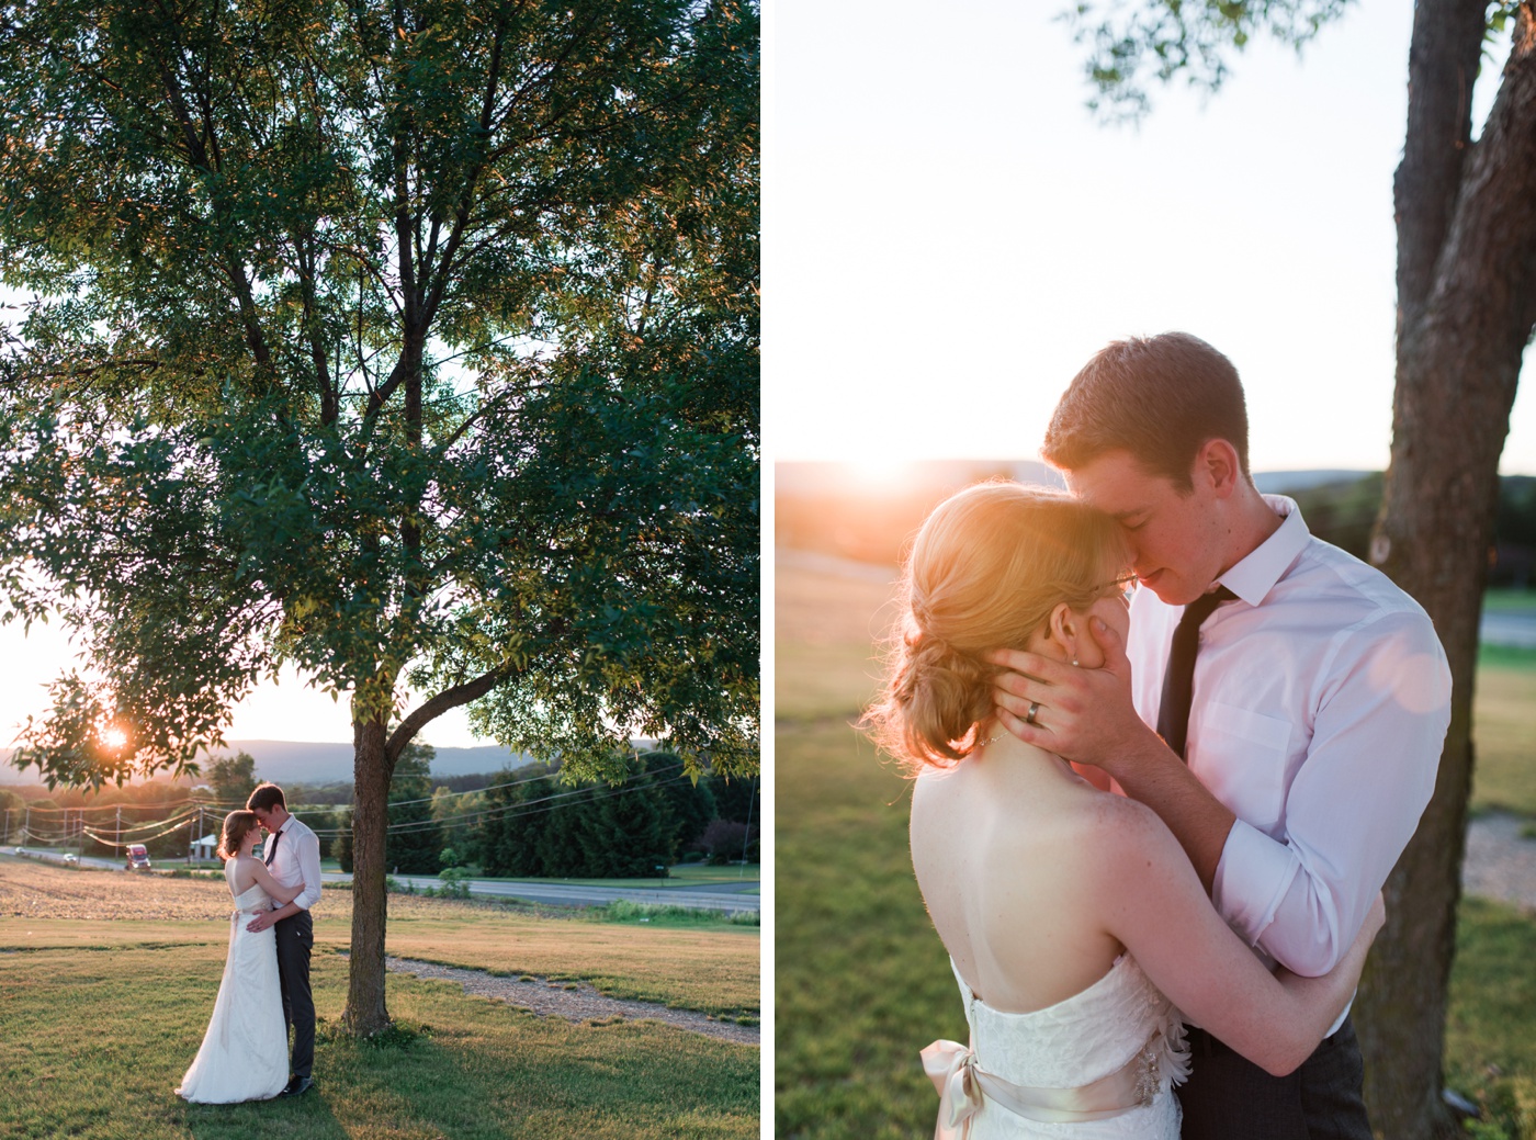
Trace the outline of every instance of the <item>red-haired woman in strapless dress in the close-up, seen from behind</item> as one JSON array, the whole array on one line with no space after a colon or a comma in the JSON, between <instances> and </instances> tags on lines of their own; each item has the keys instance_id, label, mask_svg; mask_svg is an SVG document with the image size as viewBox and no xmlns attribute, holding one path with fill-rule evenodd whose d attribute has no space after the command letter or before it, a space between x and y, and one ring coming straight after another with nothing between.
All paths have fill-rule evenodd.
<instances>
[{"instance_id":1,"label":"red-haired woman in strapless dress in the close-up, seen from behind","mask_svg":"<svg viewBox=\"0 0 1536 1140\"><path fill-rule=\"evenodd\" d=\"M914 779L912 865L971 1045L934 1042L937 1140L1178 1140L1183 1017L1273 1074L1349 1003L1384 911L1333 973L1270 974L1146 807L992 719L982 655L1103 664L1086 624L1129 624L1118 525L1060 492L969 487L929 515L865 724ZM1094 776L1097 770L1084 770Z\"/></svg>"}]
</instances>

